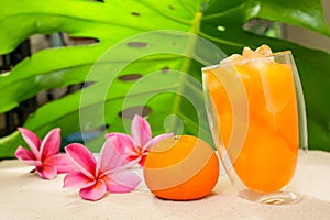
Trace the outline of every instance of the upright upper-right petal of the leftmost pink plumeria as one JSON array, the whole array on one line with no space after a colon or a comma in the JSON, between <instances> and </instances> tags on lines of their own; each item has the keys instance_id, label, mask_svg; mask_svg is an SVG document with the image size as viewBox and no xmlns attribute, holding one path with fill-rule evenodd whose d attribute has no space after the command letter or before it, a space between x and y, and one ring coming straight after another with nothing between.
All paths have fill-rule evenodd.
<instances>
[{"instance_id":1,"label":"upright upper-right petal of the leftmost pink plumeria","mask_svg":"<svg viewBox=\"0 0 330 220\"><path fill-rule=\"evenodd\" d=\"M58 154L61 147L61 129L53 129L44 138L40 153L41 158L45 160L54 154Z\"/></svg>"}]
</instances>

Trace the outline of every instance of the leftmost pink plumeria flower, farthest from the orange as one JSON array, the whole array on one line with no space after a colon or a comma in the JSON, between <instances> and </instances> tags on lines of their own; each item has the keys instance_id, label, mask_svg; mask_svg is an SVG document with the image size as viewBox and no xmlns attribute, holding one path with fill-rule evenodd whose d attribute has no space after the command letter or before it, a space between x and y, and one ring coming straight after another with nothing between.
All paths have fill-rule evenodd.
<instances>
[{"instance_id":1,"label":"leftmost pink plumeria flower, farthest from the orange","mask_svg":"<svg viewBox=\"0 0 330 220\"><path fill-rule=\"evenodd\" d=\"M67 173L74 168L65 153L59 153L61 129L53 129L40 140L32 131L19 128L24 141L31 151L19 146L15 156L25 164L35 166L35 172L45 179L52 179L61 173Z\"/></svg>"}]
</instances>

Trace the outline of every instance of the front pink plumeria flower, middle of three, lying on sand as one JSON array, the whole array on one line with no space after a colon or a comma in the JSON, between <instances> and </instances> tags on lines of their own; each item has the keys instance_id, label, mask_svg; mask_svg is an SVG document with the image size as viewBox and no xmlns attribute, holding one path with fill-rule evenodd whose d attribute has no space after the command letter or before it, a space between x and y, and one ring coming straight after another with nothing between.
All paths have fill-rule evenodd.
<instances>
[{"instance_id":1,"label":"front pink plumeria flower, middle of three, lying on sand","mask_svg":"<svg viewBox=\"0 0 330 220\"><path fill-rule=\"evenodd\" d=\"M107 191L129 193L141 182L141 178L129 169L132 165L113 146L113 139L105 142L98 163L82 144L69 144L65 151L78 170L65 176L64 187L80 188L82 199L96 201Z\"/></svg>"}]
</instances>

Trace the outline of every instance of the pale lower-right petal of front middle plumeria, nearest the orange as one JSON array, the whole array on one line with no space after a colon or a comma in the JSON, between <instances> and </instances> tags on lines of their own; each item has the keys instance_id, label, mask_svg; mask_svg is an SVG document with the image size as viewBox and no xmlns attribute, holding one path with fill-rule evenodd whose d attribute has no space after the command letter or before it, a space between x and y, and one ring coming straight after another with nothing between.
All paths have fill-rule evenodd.
<instances>
[{"instance_id":1,"label":"pale lower-right petal of front middle plumeria, nearest the orange","mask_svg":"<svg viewBox=\"0 0 330 220\"><path fill-rule=\"evenodd\" d=\"M141 178L132 170L124 169L107 176L107 190L111 193L129 193L140 184Z\"/></svg>"}]
</instances>

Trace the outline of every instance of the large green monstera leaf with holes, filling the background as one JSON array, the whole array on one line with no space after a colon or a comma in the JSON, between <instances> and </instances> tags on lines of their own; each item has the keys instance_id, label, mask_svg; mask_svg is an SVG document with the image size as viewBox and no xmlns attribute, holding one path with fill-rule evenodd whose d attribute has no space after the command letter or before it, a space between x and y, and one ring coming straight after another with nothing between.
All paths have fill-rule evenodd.
<instances>
[{"instance_id":1,"label":"large green monstera leaf with holes, filling the background","mask_svg":"<svg viewBox=\"0 0 330 220\"><path fill-rule=\"evenodd\" d=\"M280 11L280 13L278 13ZM302 81L309 146L330 151L330 55L244 30L253 18L300 25L330 36L319 0L1 0L0 54L33 34L64 32L97 43L48 48L0 76L0 112L42 90L88 87L40 107L24 127L43 136L88 134L108 125L128 132L133 113L147 114L153 134L190 133L210 140L200 68L243 46L292 50ZM89 142L95 151L103 134ZM0 139L0 157L11 157L18 132Z\"/></svg>"}]
</instances>

